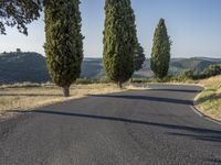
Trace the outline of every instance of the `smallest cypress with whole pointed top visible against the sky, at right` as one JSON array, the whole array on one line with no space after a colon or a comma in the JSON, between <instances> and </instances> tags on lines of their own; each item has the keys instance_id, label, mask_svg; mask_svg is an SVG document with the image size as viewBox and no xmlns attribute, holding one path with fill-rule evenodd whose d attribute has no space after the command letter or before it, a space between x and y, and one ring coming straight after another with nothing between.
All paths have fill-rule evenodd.
<instances>
[{"instance_id":1,"label":"smallest cypress with whole pointed top visible against the sky, at right","mask_svg":"<svg viewBox=\"0 0 221 165\"><path fill-rule=\"evenodd\" d=\"M160 19L155 30L154 45L151 50L151 70L155 76L162 79L167 76L170 63L170 38L167 33L165 20Z\"/></svg>"}]
</instances>

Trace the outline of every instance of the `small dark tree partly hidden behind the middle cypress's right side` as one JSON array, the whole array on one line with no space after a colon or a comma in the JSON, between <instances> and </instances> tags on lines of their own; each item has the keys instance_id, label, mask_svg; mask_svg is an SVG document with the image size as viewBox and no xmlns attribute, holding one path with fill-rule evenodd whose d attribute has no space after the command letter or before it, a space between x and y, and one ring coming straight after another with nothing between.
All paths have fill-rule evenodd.
<instances>
[{"instance_id":1,"label":"small dark tree partly hidden behind the middle cypress's right side","mask_svg":"<svg viewBox=\"0 0 221 165\"><path fill-rule=\"evenodd\" d=\"M144 48L141 47L140 43L137 43L135 48L135 57L134 57L134 67L135 72L138 72L143 68L143 64L145 62L145 53Z\"/></svg>"}]
</instances>

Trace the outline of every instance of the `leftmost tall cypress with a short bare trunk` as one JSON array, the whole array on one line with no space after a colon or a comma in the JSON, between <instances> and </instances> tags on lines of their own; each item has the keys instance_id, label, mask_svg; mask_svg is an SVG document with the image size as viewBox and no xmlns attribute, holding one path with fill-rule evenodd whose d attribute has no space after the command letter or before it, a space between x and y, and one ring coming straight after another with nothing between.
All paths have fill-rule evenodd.
<instances>
[{"instance_id":1,"label":"leftmost tall cypress with a short bare trunk","mask_svg":"<svg viewBox=\"0 0 221 165\"><path fill-rule=\"evenodd\" d=\"M70 86L80 77L83 59L80 1L50 0L44 6L49 73L69 97Z\"/></svg>"}]
</instances>

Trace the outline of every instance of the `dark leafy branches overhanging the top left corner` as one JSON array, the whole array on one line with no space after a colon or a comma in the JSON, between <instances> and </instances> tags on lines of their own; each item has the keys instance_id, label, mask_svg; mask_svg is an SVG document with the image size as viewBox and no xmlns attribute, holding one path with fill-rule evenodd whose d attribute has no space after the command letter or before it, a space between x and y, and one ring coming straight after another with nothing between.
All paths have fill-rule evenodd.
<instances>
[{"instance_id":1,"label":"dark leafy branches overhanging the top left corner","mask_svg":"<svg viewBox=\"0 0 221 165\"><path fill-rule=\"evenodd\" d=\"M19 32L28 35L27 24L40 16L41 0L1 0L0 34L6 34L7 26L15 26Z\"/></svg>"}]
</instances>

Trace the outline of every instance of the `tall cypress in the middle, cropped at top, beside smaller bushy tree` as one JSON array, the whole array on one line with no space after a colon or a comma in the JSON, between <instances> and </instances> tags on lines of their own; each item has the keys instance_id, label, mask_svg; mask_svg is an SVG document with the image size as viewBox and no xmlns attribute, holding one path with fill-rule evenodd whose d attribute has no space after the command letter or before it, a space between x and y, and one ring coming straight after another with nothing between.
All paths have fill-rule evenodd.
<instances>
[{"instance_id":1,"label":"tall cypress in the middle, cropped at top, beside smaller bushy tree","mask_svg":"<svg viewBox=\"0 0 221 165\"><path fill-rule=\"evenodd\" d=\"M135 15L130 0L106 0L103 63L107 76L122 88L134 74Z\"/></svg>"}]
</instances>

